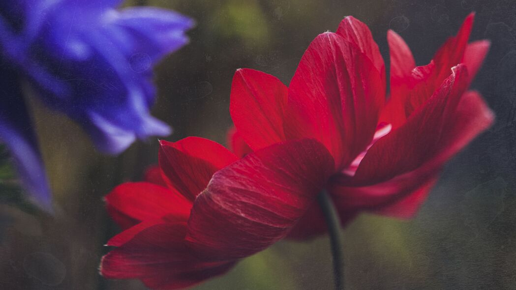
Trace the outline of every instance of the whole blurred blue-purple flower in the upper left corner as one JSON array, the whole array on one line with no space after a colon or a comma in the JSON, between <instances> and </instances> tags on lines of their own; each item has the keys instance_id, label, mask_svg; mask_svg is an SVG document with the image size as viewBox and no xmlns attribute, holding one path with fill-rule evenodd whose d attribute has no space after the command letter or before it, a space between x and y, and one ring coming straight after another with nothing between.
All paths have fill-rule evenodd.
<instances>
[{"instance_id":1,"label":"whole blurred blue-purple flower in the upper left corner","mask_svg":"<svg viewBox=\"0 0 516 290\"><path fill-rule=\"evenodd\" d=\"M20 79L48 107L80 124L95 146L117 154L136 139L167 136L153 118L152 67L188 42L193 21L119 0L0 2L0 139L31 199L50 210L50 189Z\"/></svg>"}]
</instances>

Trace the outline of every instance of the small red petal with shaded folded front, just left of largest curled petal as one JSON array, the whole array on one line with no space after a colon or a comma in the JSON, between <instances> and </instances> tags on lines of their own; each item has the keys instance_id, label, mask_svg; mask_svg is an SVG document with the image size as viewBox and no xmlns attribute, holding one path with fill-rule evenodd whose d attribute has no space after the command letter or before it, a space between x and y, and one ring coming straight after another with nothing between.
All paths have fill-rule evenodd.
<instances>
[{"instance_id":1,"label":"small red petal with shaded folded front, just left of largest curled petal","mask_svg":"<svg viewBox=\"0 0 516 290\"><path fill-rule=\"evenodd\" d=\"M213 173L238 159L219 143L199 137L159 144L159 166L167 182L191 201L206 188Z\"/></svg>"}]
</instances>

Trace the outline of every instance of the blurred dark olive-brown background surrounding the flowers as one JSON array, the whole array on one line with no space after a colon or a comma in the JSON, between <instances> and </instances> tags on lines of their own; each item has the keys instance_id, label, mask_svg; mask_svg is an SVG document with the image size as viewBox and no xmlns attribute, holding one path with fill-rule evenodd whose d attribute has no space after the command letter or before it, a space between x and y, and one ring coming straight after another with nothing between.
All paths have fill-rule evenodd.
<instances>
[{"instance_id":1,"label":"blurred dark olive-brown background surrounding the flowers","mask_svg":"<svg viewBox=\"0 0 516 290\"><path fill-rule=\"evenodd\" d=\"M386 31L404 37L418 65L477 11L472 39L493 46L473 87L495 110L497 123L445 168L411 221L362 215L343 231L347 289L516 289L516 4L514 1L406 0L139 0L196 19L190 44L156 68L153 113L179 140L201 136L225 143L231 126L233 73L253 68L292 77L308 44L346 16L373 31L388 65ZM98 274L102 245L116 234L102 197L138 180L157 162L157 139L118 157L95 152L80 128L31 100L57 214L38 214L17 198L0 205L11 223L0 241L2 289L124 289L139 281ZM3 151L2 151L3 152ZM0 164L3 179L11 179ZM5 189L2 183L0 190ZM7 184L8 185L8 184ZM21 205L20 205L21 204ZM329 241L282 241L240 262L198 289L331 289Z\"/></svg>"}]
</instances>

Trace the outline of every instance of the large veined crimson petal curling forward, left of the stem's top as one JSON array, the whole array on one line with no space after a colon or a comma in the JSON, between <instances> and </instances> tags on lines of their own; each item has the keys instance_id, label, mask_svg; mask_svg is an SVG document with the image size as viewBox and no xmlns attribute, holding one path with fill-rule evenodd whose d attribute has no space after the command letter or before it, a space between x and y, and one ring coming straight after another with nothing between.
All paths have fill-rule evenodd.
<instances>
[{"instance_id":1,"label":"large veined crimson petal curling forward, left of the stem's top","mask_svg":"<svg viewBox=\"0 0 516 290\"><path fill-rule=\"evenodd\" d=\"M251 153L218 171L196 199L186 240L198 256L235 259L285 237L334 168L313 139Z\"/></svg>"}]
</instances>

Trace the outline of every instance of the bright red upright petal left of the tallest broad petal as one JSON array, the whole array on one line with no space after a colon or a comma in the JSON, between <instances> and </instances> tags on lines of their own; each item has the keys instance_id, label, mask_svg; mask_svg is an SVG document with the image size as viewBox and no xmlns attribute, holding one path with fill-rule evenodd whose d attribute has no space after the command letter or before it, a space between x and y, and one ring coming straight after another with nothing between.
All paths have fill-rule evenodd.
<instances>
[{"instance_id":1,"label":"bright red upright petal left of the tallest broad petal","mask_svg":"<svg viewBox=\"0 0 516 290\"><path fill-rule=\"evenodd\" d=\"M270 74L251 69L236 71L231 85L231 118L252 150L285 140L287 93L287 87Z\"/></svg>"}]
</instances>

